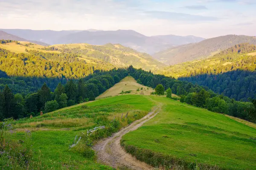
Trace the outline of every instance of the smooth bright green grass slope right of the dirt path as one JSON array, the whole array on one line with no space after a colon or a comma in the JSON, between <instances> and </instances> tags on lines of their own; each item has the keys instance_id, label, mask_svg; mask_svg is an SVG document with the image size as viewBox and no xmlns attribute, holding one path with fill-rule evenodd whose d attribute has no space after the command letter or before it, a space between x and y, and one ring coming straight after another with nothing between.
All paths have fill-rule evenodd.
<instances>
[{"instance_id":1,"label":"smooth bright green grass slope right of the dirt path","mask_svg":"<svg viewBox=\"0 0 256 170\"><path fill-rule=\"evenodd\" d=\"M201 170L256 170L256 129L223 114L150 96L162 110L122 145L154 167Z\"/></svg>"}]
</instances>

